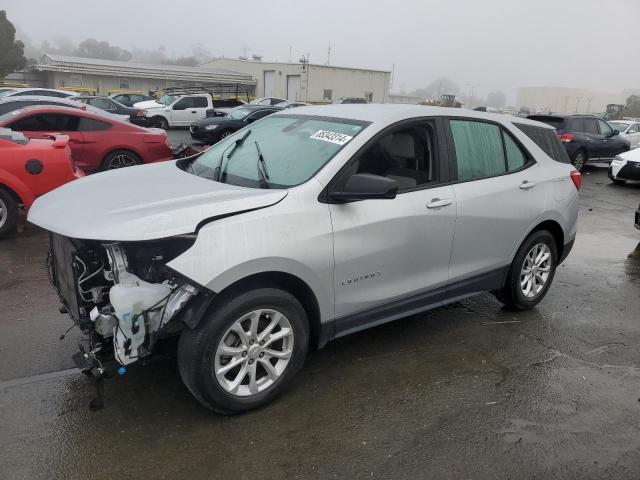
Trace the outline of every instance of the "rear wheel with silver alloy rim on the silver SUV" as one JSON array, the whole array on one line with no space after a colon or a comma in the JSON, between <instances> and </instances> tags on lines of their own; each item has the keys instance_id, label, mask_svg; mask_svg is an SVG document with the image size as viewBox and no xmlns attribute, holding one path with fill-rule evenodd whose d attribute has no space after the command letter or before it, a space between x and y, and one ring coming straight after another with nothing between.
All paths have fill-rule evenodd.
<instances>
[{"instance_id":1,"label":"rear wheel with silver alloy rim on the silver SUV","mask_svg":"<svg viewBox=\"0 0 640 480\"><path fill-rule=\"evenodd\" d=\"M518 249L496 297L514 310L530 310L547 294L556 272L556 240L546 230L529 235Z\"/></svg>"}]
</instances>

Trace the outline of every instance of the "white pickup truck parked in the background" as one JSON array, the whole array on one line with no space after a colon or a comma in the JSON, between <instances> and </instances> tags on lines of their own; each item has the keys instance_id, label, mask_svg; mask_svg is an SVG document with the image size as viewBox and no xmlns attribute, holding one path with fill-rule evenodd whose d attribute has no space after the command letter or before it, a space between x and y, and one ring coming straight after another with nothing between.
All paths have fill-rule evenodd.
<instances>
[{"instance_id":1,"label":"white pickup truck parked in the background","mask_svg":"<svg viewBox=\"0 0 640 480\"><path fill-rule=\"evenodd\" d=\"M136 103L134 107L144 109L147 126L166 130L170 127L188 127L206 117L207 110L213 108L213 102L208 93L165 95L158 100Z\"/></svg>"}]
</instances>

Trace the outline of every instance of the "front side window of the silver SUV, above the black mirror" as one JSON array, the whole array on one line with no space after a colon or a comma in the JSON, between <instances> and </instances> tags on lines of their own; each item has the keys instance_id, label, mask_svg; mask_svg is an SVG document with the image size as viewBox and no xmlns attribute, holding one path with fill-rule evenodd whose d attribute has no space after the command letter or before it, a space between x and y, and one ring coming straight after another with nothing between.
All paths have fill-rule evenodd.
<instances>
[{"instance_id":1,"label":"front side window of the silver SUV, above the black mirror","mask_svg":"<svg viewBox=\"0 0 640 480\"><path fill-rule=\"evenodd\" d=\"M385 133L347 167L338 186L344 186L356 173L391 178L398 183L400 192L435 182L435 138L435 125L430 121L403 125Z\"/></svg>"}]
</instances>

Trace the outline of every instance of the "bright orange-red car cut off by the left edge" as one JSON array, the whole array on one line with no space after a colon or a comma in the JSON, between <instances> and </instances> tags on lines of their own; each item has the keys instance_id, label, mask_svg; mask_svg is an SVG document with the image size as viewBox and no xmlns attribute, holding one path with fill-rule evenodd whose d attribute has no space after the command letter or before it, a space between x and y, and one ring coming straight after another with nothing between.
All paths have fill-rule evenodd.
<instances>
[{"instance_id":1,"label":"bright orange-red car cut off by the left edge","mask_svg":"<svg viewBox=\"0 0 640 480\"><path fill-rule=\"evenodd\" d=\"M15 231L18 208L36 197L84 176L75 167L69 137L32 139L0 128L0 238Z\"/></svg>"}]
</instances>

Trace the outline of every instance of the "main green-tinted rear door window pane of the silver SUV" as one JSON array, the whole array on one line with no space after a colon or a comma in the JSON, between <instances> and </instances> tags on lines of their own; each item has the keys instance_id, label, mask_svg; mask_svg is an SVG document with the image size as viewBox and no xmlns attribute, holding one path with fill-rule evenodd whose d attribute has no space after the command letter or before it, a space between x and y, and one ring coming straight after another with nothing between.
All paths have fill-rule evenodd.
<instances>
[{"instance_id":1,"label":"main green-tinted rear door window pane of the silver SUV","mask_svg":"<svg viewBox=\"0 0 640 480\"><path fill-rule=\"evenodd\" d=\"M506 173L500 127L471 120L450 120L449 123L456 147L459 181Z\"/></svg>"}]
</instances>

